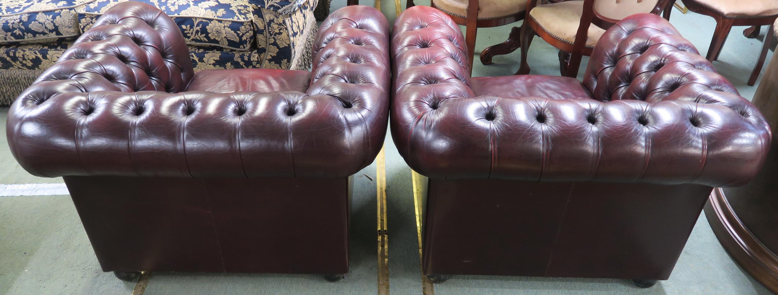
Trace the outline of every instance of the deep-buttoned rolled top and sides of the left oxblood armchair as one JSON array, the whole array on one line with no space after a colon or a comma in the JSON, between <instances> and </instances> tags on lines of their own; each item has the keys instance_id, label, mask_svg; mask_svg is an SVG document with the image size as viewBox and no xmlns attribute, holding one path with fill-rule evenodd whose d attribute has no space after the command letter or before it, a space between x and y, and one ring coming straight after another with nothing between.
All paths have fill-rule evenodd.
<instances>
[{"instance_id":1,"label":"deep-buttoned rolled top and sides of the left oxblood armchair","mask_svg":"<svg viewBox=\"0 0 778 295\"><path fill-rule=\"evenodd\" d=\"M389 71L388 25L377 10L349 6L325 21L314 50L337 54L321 57L308 93L214 93L180 92L191 78L180 31L164 15L166 26L138 26L137 11L142 19L154 8L126 3L13 103L9 144L33 175L339 178L380 150ZM112 19L120 24L106 24ZM146 72L182 78L147 82Z\"/></svg>"}]
</instances>

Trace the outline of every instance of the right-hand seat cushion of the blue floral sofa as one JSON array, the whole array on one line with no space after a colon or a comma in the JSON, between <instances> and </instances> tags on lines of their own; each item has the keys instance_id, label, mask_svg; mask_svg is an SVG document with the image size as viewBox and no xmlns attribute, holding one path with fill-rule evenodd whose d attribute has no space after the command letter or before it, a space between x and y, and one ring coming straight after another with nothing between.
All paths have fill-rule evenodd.
<instances>
[{"instance_id":1,"label":"right-hand seat cushion of the blue floral sofa","mask_svg":"<svg viewBox=\"0 0 778 295\"><path fill-rule=\"evenodd\" d=\"M5 1L5 0L0 0ZM28 0L31 1L31 0ZM107 9L127 0L95 0L78 9L79 26L86 31ZM255 6L247 0L142 0L173 18L187 44L249 50L255 42Z\"/></svg>"}]
</instances>

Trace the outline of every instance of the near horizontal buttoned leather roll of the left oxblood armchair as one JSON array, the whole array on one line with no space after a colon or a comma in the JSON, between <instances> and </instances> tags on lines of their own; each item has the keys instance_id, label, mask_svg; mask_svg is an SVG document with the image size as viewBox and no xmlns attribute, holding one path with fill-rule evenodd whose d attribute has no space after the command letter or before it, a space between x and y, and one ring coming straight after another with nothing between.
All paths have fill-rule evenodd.
<instances>
[{"instance_id":1,"label":"near horizontal buttoned leather roll of the left oxblood armchair","mask_svg":"<svg viewBox=\"0 0 778 295\"><path fill-rule=\"evenodd\" d=\"M386 124L350 111L303 92L64 92L12 106L7 134L44 177L342 178L373 161Z\"/></svg>"}]
</instances>

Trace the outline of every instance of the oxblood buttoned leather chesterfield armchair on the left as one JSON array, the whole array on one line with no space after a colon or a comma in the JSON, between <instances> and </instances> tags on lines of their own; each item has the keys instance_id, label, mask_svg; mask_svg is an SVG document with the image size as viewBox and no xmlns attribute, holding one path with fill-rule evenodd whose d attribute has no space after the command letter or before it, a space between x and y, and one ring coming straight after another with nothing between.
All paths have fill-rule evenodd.
<instances>
[{"instance_id":1,"label":"oxblood buttoned leather chesterfield armchair on the left","mask_svg":"<svg viewBox=\"0 0 778 295\"><path fill-rule=\"evenodd\" d=\"M389 26L334 12L308 71L192 72L173 20L110 9L9 110L33 175L64 176L103 271L349 270L350 175L384 141Z\"/></svg>"}]
</instances>

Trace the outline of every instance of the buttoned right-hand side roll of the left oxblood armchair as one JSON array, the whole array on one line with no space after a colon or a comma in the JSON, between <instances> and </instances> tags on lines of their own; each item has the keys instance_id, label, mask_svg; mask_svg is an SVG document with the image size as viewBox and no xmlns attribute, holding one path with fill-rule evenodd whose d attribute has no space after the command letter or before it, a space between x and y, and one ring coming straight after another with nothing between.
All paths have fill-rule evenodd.
<instances>
[{"instance_id":1,"label":"buttoned right-hand side roll of the left oxblood armchair","mask_svg":"<svg viewBox=\"0 0 778 295\"><path fill-rule=\"evenodd\" d=\"M386 136L391 87L389 25L370 6L351 5L332 12L321 23L312 48L309 95L326 95L337 102L346 121L359 125L362 151L370 165ZM370 127L369 130L365 130Z\"/></svg>"}]
</instances>

